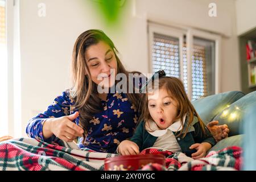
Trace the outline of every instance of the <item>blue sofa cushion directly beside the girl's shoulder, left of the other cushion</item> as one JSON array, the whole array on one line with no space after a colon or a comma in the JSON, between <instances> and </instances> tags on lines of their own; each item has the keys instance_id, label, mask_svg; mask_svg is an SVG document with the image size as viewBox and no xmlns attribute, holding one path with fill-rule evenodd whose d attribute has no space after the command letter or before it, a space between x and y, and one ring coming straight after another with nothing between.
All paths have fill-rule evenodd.
<instances>
[{"instance_id":1,"label":"blue sofa cushion directly beside the girl's shoulder, left of the other cushion","mask_svg":"<svg viewBox=\"0 0 256 182\"><path fill-rule=\"evenodd\" d=\"M192 101L192 104L201 119L207 124L213 121L213 118L225 107L236 102L243 96L245 96L245 94L238 91L224 92L200 98L199 100Z\"/></svg>"}]
</instances>

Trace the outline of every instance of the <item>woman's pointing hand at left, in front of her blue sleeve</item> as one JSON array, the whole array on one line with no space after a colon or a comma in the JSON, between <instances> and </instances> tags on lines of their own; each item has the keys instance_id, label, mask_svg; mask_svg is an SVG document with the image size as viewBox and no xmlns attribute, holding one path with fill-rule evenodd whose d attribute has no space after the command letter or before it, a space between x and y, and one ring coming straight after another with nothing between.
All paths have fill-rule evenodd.
<instances>
[{"instance_id":1,"label":"woman's pointing hand at left, in front of her blue sleeve","mask_svg":"<svg viewBox=\"0 0 256 182\"><path fill-rule=\"evenodd\" d=\"M44 138L47 139L54 134L65 142L72 142L77 137L82 137L84 130L72 122L77 117L79 117L79 112L76 111L68 116L47 119L43 125Z\"/></svg>"}]
</instances>

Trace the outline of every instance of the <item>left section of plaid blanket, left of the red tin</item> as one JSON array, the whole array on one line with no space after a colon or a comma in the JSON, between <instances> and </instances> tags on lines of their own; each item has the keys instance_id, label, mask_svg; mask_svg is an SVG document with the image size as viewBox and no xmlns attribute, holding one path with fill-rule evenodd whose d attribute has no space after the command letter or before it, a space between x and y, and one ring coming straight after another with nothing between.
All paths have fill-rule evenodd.
<instances>
[{"instance_id":1,"label":"left section of plaid blanket, left of the red tin","mask_svg":"<svg viewBox=\"0 0 256 182\"><path fill-rule=\"evenodd\" d=\"M117 155L79 150L74 146L63 141L49 144L32 138L7 140L0 143L0 170L104 170L104 159Z\"/></svg>"}]
</instances>

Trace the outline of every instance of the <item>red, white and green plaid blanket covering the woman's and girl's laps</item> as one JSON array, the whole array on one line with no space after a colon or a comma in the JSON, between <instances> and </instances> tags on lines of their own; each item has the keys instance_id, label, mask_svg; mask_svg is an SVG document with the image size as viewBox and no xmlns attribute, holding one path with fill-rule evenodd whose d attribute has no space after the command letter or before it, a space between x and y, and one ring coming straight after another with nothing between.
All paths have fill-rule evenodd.
<instances>
[{"instance_id":1,"label":"red, white and green plaid blanket covering the woman's and girl's laps","mask_svg":"<svg viewBox=\"0 0 256 182\"><path fill-rule=\"evenodd\" d=\"M212 151L205 158L193 160L181 152L150 148L141 154L163 154L166 166L148 164L142 170L240 170L240 147ZM117 154L79 150L75 143L45 143L32 138L0 142L0 170L104 170L104 159Z\"/></svg>"}]
</instances>

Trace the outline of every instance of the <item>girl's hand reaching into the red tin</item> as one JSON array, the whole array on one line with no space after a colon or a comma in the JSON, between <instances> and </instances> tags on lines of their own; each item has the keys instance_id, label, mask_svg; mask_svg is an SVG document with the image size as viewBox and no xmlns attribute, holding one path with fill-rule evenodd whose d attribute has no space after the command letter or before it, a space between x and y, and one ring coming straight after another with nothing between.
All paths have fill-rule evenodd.
<instances>
[{"instance_id":1,"label":"girl's hand reaching into the red tin","mask_svg":"<svg viewBox=\"0 0 256 182\"><path fill-rule=\"evenodd\" d=\"M121 155L136 155L139 154L139 147L130 140L123 140L118 146L118 153Z\"/></svg>"}]
</instances>

